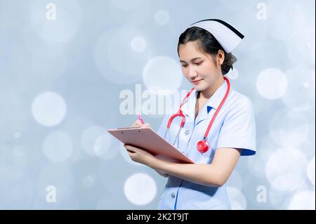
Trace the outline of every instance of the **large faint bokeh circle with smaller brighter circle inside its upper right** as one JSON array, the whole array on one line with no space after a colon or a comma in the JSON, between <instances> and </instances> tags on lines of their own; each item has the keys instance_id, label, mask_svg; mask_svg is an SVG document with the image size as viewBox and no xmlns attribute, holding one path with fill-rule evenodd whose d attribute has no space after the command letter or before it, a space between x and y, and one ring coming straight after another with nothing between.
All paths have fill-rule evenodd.
<instances>
[{"instance_id":1,"label":"large faint bokeh circle with smaller brighter circle inside its upper right","mask_svg":"<svg viewBox=\"0 0 316 224\"><path fill-rule=\"evenodd\" d=\"M153 46L145 32L135 27L121 27L100 35L94 60L105 79L114 84L129 84L141 79L143 67L152 54Z\"/></svg>"}]
</instances>

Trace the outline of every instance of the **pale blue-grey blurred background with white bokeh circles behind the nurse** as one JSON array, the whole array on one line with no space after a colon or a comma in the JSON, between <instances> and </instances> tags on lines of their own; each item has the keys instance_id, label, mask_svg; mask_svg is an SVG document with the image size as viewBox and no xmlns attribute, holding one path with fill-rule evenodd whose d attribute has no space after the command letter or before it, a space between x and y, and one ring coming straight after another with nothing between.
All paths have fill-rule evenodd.
<instances>
[{"instance_id":1,"label":"pale blue-grey blurred background with white bokeh circles behind the nurse","mask_svg":"<svg viewBox=\"0 0 316 224\"><path fill-rule=\"evenodd\" d=\"M256 113L232 208L315 209L313 0L0 0L0 209L157 209L166 178L106 130L136 120L124 91L191 88L178 37L206 18L245 35L228 77Z\"/></svg>"}]
</instances>

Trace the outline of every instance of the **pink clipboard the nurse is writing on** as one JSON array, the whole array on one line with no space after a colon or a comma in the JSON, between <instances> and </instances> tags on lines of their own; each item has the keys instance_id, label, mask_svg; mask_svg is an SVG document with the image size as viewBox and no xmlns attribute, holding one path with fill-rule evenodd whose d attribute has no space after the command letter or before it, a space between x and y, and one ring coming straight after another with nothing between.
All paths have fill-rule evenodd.
<instances>
[{"instance_id":1,"label":"pink clipboard the nurse is writing on","mask_svg":"<svg viewBox=\"0 0 316 224\"><path fill-rule=\"evenodd\" d=\"M149 151L158 159L183 164L194 164L191 159L173 147L164 138L150 128L121 128L107 130L121 143L140 147Z\"/></svg>"}]
</instances>

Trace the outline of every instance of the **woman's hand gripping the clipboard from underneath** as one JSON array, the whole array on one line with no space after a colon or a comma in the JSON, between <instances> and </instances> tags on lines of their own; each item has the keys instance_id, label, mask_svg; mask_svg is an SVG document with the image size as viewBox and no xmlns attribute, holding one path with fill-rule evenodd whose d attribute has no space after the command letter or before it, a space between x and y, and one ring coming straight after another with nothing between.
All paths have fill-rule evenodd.
<instances>
[{"instance_id":1,"label":"woman's hand gripping the clipboard from underneath","mask_svg":"<svg viewBox=\"0 0 316 224\"><path fill-rule=\"evenodd\" d=\"M152 168L158 160L152 154L150 154L149 152L146 152L143 149L140 149L139 147L134 147L131 145L126 145L126 144L124 144L124 147L129 153L129 157L131 157L131 159L134 162L138 162L140 164L144 164Z\"/></svg>"}]
</instances>

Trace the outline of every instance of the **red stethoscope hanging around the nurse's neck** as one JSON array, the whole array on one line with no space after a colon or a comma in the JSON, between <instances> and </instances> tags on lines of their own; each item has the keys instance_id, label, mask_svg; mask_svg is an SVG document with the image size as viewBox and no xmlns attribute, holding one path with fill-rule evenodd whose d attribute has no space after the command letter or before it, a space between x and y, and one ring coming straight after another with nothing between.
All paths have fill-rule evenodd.
<instances>
[{"instance_id":1,"label":"red stethoscope hanging around the nurse's neck","mask_svg":"<svg viewBox=\"0 0 316 224\"><path fill-rule=\"evenodd\" d=\"M226 82L227 82L227 91L225 93L225 96L223 98L223 100L220 102L220 105L218 106L218 110L216 110L215 114L213 115L211 121L209 122L209 126L207 127L206 129L206 132L204 133L204 137L203 137L203 140L200 140L198 143L197 143L197 151L201 152L201 153L204 153L204 152L207 152L207 150L209 150L209 142L207 141L207 135L209 134L209 130L211 129L211 126L213 124L213 121L215 120L218 112L220 111L220 108L222 107L223 103L225 102L227 96L228 96L228 93L230 92L230 81L226 78L226 77L223 77ZM176 136L176 139L174 140L174 143L173 145L176 143L176 140L177 138L179 137L179 134L180 134L180 131L181 129L183 128L183 126L185 125L185 115L183 114L182 110L181 110L181 107L183 106L184 104L184 101L189 97L189 95L192 93L192 91L194 90L195 88L191 88L191 90L189 91L189 93L187 93L187 95L185 95L185 98L182 100L182 103L180 104L180 108L178 110L178 112L176 112L176 114L173 114L170 118L169 118L169 121L168 121L168 125L166 127L166 132L164 133L164 138L166 138L166 133L167 131L169 131L170 129L170 126L171 126L171 123L173 121L173 119L175 117L178 117L180 116L182 118L181 120L181 124L180 124L180 129L178 131L178 134Z\"/></svg>"}]
</instances>

